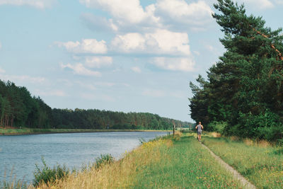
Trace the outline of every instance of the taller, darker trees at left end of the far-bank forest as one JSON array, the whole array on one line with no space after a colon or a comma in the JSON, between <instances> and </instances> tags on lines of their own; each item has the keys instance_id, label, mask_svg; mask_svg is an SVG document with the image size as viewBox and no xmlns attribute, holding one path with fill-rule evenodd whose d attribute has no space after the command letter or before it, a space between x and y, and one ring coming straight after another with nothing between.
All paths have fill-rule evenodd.
<instances>
[{"instance_id":1,"label":"taller, darker trees at left end of the far-bank forest","mask_svg":"<svg viewBox=\"0 0 283 189\"><path fill-rule=\"evenodd\" d=\"M52 109L25 87L0 80L1 127L50 127Z\"/></svg>"}]
</instances>

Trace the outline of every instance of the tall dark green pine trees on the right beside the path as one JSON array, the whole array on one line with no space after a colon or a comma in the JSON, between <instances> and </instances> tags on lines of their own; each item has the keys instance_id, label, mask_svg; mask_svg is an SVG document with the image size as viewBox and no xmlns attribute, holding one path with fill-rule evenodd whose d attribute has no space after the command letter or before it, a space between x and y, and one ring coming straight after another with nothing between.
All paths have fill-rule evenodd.
<instances>
[{"instance_id":1,"label":"tall dark green pine trees on the right beside the path","mask_svg":"<svg viewBox=\"0 0 283 189\"><path fill-rule=\"evenodd\" d=\"M222 134L282 141L282 29L265 27L243 4L217 1L212 16L226 52L209 68L207 80L190 82L191 117Z\"/></svg>"}]
</instances>

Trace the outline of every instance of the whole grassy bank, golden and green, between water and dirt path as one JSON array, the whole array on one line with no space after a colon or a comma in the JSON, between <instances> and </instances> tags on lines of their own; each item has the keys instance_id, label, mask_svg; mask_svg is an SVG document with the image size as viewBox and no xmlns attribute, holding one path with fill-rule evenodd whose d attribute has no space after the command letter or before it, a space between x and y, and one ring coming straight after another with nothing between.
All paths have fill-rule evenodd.
<instances>
[{"instance_id":1,"label":"whole grassy bank, golden and green, between water and dirt path","mask_svg":"<svg viewBox=\"0 0 283 189\"><path fill-rule=\"evenodd\" d=\"M40 188L241 188L192 134L146 142L125 157Z\"/></svg>"}]
</instances>

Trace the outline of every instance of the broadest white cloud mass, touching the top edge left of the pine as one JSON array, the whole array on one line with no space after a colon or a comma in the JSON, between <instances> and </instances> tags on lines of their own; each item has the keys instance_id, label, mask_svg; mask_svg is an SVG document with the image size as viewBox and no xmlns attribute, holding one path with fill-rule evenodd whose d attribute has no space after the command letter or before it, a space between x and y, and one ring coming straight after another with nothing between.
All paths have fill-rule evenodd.
<instances>
[{"instance_id":1,"label":"broadest white cloud mass, touching the top edge left of the pine","mask_svg":"<svg viewBox=\"0 0 283 189\"><path fill-rule=\"evenodd\" d=\"M267 0L266 0L267 1ZM156 28L172 30L205 30L213 21L212 9L204 1L188 4L185 0L157 0L142 7L140 0L80 0L90 8L107 11L112 19L83 13L81 18L89 28L113 30L115 32L149 31ZM196 27L197 25L197 27Z\"/></svg>"}]
</instances>

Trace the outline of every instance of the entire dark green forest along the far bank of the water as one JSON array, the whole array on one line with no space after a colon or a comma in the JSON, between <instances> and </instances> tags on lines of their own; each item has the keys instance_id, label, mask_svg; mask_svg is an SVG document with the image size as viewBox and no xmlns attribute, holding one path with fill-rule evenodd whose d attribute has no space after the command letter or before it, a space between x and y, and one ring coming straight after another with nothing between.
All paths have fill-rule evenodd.
<instances>
[{"instance_id":1,"label":"entire dark green forest along the far bank of the water","mask_svg":"<svg viewBox=\"0 0 283 189\"><path fill-rule=\"evenodd\" d=\"M189 122L162 118L152 113L50 108L25 87L0 80L0 126L31 128L172 130Z\"/></svg>"}]
</instances>

